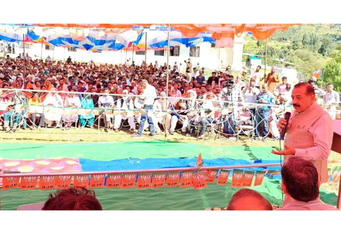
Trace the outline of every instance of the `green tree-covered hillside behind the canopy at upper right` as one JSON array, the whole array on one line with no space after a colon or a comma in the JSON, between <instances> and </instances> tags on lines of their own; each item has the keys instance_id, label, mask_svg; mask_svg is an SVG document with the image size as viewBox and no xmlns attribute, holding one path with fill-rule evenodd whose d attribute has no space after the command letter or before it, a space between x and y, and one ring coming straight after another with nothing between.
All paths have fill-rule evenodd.
<instances>
[{"instance_id":1,"label":"green tree-covered hillside behind the canopy at upper right","mask_svg":"<svg viewBox=\"0 0 341 234\"><path fill-rule=\"evenodd\" d=\"M244 40L248 41L244 44L245 53L265 55L265 41L258 41L252 35L246 35ZM341 92L340 24L298 25L285 31L276 31L268 39L267 65L282 66L273 61L276 58L294 63L293 67L304 80L308 80L312 72L324 67L323 86L333 81L335 89Z\"/></svg>"}]
</instances>

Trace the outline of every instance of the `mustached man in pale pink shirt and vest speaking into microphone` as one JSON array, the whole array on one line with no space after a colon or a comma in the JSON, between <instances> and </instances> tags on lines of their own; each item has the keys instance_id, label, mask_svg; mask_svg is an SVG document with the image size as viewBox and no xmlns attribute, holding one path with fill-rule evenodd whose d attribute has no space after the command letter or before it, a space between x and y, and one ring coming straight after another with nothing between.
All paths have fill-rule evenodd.
<instances>
[{"instance_id":1,"label":"mustached man in pale pink shirt and vest speaking into microphone","mask_svg":"<svg viewBox=\"0 0 341 234\"><path fill-rule=\"evenodd\" d=\"M314 87L309 83L298 83L292 90L292 105L287 133L284 139L284 150L272 150L271 153L284 155L283 163L291 156L299 156L313 162L321 183L328 178L327 158L333 142L333 121L323 108L315 103ZM286 125L280 119L278 129Z\"/></svg>"}]
</instances>

